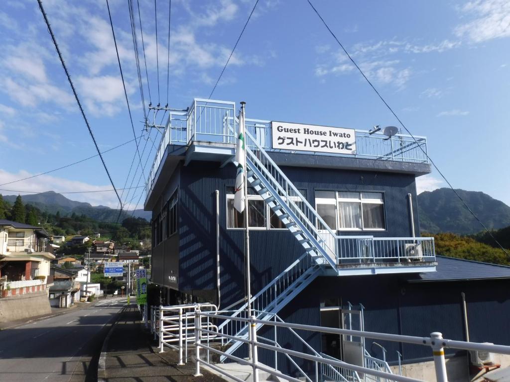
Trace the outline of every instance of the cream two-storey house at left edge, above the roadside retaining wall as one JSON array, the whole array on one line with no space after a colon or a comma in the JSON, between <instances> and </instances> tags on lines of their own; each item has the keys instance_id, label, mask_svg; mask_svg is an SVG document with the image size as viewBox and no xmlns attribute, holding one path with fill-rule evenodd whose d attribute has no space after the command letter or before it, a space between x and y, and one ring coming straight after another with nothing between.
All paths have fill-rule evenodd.
<instances>
[{"instance_id":1,"label":"cream two-storey house at left edge, above the roadside retaining wall","mask_svg":"<svg viewBox=\"0 0 510 382\"><path fill-rule=\"evenodd\" d=\"M0 220L1 295L36 292L52 284L48 276L55 255L48 237L41 227Z\"/></svg>"}]
</instances>

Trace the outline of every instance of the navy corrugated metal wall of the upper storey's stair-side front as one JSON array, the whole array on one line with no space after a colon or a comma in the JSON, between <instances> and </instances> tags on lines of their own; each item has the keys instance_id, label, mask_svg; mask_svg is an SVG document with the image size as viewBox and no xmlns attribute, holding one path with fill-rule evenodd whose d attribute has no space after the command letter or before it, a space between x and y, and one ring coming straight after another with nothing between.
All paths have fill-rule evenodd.
<instances>
[{"instance_id":1,"label":"navy corrugated metal wall of the upper storey's stair-side front","mask_svg":"<svg viewBox=\"0 0 510 382\"><path fill-rule=\"evenodd\" d=\"M386 231L352 231L349 234L410 236L407 194L416 195L413 175L330 169L283 169L314 205L316 189L376 190L385 194ZM234 185L235 168L217 163L192 162L182 168L180 212L180 283L183 290L214 289L216 280L215 190L220 192L220 257L222 305L244 295L244 233L226 229L226 188ZM415 213L418 224L417 213ZM252 292L256 292L304 251L286 231L250 231Z\"/></svg>"}]
</instances>

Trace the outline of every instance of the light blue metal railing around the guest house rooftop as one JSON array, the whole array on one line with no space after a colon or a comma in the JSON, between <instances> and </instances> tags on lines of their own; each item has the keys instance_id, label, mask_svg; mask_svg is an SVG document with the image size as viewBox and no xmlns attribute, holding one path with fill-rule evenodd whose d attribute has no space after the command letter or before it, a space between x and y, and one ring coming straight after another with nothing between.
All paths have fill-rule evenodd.
<instances>
[{"instance_id":1,"label":"light blue metal railing around the guest house rooftop","mask_svg":"<svg viewBox=\"0 0 510 382\"><path fill-rule=\"evenodd\" d=\"M166 147L189 145L192 142L235 144L237 120L236 103L195 98L187 111L170 110L165 132L147 179L147 194L165 155ZM272 148L271 121L246 119L246 129L266 151ZM388 138L382 133L369 134L368 130L355 130L355 154L331 154L312 151L292 151L308 155L348 156L354 158L428 163L427 140L415 135L396 134Z\"/></svg>"}]
</instances>

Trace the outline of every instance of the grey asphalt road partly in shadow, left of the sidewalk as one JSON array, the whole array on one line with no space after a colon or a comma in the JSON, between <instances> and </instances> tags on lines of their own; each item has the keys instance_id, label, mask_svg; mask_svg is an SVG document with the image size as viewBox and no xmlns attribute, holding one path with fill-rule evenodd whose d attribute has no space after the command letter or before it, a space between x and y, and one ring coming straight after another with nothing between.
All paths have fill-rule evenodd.
<instances>
[{"instance_id":1,"label":"grey asphalt road partly in shadow, left of the sidewalk","mask_svg":"<svg viewBox=\"0 0 510 382\"><path fill-rule=\"evenodd\" d=\"M0 332L0 381L94 381L108 323L126 304L109 299Z\"/></svg>"}]
</instances>

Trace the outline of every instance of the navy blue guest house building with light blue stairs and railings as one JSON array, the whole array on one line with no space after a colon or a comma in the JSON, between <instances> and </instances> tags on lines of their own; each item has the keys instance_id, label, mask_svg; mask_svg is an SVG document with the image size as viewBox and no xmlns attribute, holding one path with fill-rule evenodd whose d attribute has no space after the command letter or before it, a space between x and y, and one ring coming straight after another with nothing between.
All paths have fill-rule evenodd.
<instances>
[{"instance_id":1,"label":"navy blue guest house building with light blue stairs and railings","mask_svg":"<svg viewBox=\"0 0 510 382\"><path fill-rule=\"evenodd\" d=\"M167 304L245 304L244 215L233 206L235 111L234 102L195 99L168 112L145 200L152 282ZM488 317L510 312L510 269L437 257L433 238L420 237L415 180L430 173L424 137L254 119L246 129L254 309L345 327L352 308L368 331L464 339L464 292L471 340L510 344L495 329L503 315ZM489 319L494 325L481 325ZM284 336L282 346L302 346ZM344 357L341 339L307 342ZM390 363L397 350L404 363L431 359L426 348L383 345Z\"/></svg>"}]
</instances>

